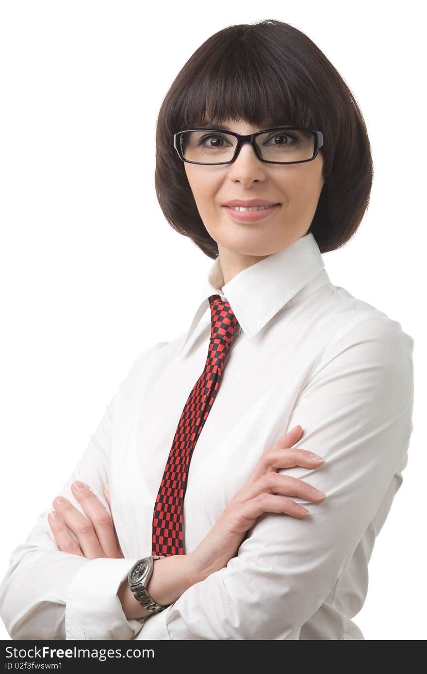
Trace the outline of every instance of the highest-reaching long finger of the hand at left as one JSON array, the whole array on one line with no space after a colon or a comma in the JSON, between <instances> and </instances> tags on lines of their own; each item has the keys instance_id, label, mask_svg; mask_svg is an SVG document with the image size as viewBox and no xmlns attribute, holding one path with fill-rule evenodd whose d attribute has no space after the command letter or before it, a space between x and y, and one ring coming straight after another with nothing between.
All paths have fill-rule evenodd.
<instances>
[{"instance_id":1,"label":"highest-reaching long finger of the hand at left","mask_svg":"<svg viewBox=\"0 0 427 674\"><path fill-rule=\"evenodd\" d=\"M72 492L92 523L98 543L103 549L105 556L118 557L119 548L110 513L105 510L101 501L96 498L93 491L83 482L78 481L73 483Z\"/></svg>"}]
</instances>

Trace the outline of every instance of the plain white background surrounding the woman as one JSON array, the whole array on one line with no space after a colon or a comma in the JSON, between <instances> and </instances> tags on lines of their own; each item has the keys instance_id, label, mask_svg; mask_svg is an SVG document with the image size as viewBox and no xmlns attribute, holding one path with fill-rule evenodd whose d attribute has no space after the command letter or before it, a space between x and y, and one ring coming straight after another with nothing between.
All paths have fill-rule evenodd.
<instances>
[{"instance_id":1,"label":"plain white background surrounding the woman","mask_svg":"<svg viewBox=\"0 0 427 674\"><path fill-rule=\"evenodd\" d=\"M144 6L145 4L145 6ZM210 35L279 19L305 32L358 100L374 159L333 284L414 338L414 431L370 561L367 640L426 638L424 24L412 2L0 4L0 574L84 452L133 359L186 330L212 260L154 191L163 97ZM9 639L0 620L0 638Z\"/></svg>"}]
</instances>

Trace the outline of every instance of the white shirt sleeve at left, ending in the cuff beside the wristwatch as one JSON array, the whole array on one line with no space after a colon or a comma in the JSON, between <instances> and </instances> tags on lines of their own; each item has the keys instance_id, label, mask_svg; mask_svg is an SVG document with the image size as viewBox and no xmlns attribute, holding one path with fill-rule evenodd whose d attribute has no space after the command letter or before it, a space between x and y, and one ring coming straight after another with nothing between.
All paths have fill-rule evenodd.
<instances>
[{"instance_id":1,"label":"white shirt sleeve at left, ending in the cuff beside the wristwatch","mask_svg":"<svg viewBox=\"0 0 427 674\"><path fill-rule=\"evenodd\" d=\"M117 596L137 559L86 559L60 551L47 520L57 495L84 514L71 490L76 480L86 483L109 512L104 487L109 483L115 398L62 489L51 495L48 509L38 516L26 541L11 553L0 585L0 615L12 639L131 639L145 621L127 620Z\"/></svg>"}]
</instances>

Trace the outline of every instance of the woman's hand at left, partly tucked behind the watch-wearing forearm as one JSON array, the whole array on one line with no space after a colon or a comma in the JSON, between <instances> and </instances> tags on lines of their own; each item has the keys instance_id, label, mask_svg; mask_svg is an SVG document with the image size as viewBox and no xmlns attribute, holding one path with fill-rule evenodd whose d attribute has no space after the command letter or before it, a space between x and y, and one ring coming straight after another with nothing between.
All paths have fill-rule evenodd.
<instances>
[{"instance_id":1,"label":"woman's hand at left, partly tucked behind the watch-wearing forearm","mask_svg":"<svg viewBox=\"0 0 427 674\"><path fill-rule=\"evenodd\" d=\"M63 503L57 503L56 499L53 501L55 510L49 513L48 521L59 549L71 555L87 557L87 559L124 557L117 539L113 518L110 515L109 485L105 487L104 495L110 514L106 512L102 503L87 485L84 485L84 489L77 489L76 485L83 485L83 483L73 483L72 492L88 519L67 499L63 499ZM77 536L78 542L69 533L67 527Z\"/></svg>"}]
</instances>

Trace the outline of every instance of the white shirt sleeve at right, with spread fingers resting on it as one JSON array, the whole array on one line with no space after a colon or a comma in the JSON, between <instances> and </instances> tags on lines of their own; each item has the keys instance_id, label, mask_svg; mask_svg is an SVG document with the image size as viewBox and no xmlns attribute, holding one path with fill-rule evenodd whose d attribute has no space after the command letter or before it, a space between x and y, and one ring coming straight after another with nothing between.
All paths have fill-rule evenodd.
<instances>
[{"instance_id":1,"label":"white shirt sleeve at right, with spread fingers resting on it","mask_svg":"<svg viewBox=\"0 0 427 674\"><path fill-rule=\"evenodd\" d=\"M369 317L335 335L302 385L287 429L320 468L281 468L326 494L291 497L305 520L263 513L227 566L150 617L138 639L297 640L353 555L399 470L412 431L414 340ZM286 386L286 373L283 373Z\"/></svg>"}]
</instances>

